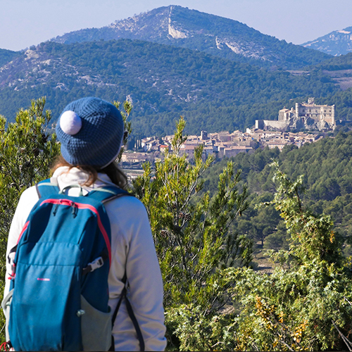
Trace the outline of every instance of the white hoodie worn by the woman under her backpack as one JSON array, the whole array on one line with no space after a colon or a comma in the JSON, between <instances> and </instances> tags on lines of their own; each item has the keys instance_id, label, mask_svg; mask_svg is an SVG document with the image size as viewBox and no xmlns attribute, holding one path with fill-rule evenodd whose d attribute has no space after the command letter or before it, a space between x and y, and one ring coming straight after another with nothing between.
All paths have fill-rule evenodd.
<instances>
[{"instance_id":1,"label":"white hoodie worn by the woman under her backpack","mask_svg":"<svg viewBox=\"0 0 352 352\"><path fill-rule=\"evenodd\" d=\"M58 180L58 186L63 189L71 184L82 184L87 180L87 174L77 168L68 172L68 168L58 168L53 177ZM84 192L96 187L111 185L109 177L99 173L99 179L92 187L83 187ZM79 189L69 190L70 196L77 196ZM39 197L35 187L26 189L16 208L10 233L8 234L8 252L18 241L30 210ZM122 277L127 274L130 286L130 302L134 315L139 322L146 351L163 351L166 346L163 282L156 257L156 251L151 235L146 208L134 197L125 196L106 203L106 212L111 223L111 270L108 277L109 306L115 310L118 299L124 287ZM11 273L11 267L6 260L6 278ZM10 280L6 279L5 293L9 291ZM125 300L118 311L113 327L115 351L139 351L139 341L134 326L127 313Z\"/></svg>"}]
</instances>

